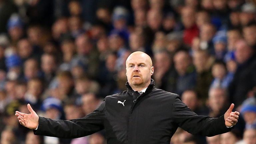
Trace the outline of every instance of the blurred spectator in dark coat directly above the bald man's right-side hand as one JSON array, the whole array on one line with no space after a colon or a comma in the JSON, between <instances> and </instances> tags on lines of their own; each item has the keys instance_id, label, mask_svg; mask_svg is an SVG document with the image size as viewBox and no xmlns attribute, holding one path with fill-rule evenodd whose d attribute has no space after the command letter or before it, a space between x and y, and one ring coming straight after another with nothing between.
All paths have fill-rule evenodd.
<instances>
[{"instance_id":1,"label":"blurred spectator in dark coat directly above the bald man's right-side hand","mask_svg":"<svg viewBox=\"0 0 256 144\"><path fill-rule=\"evenodd\" d=\"M255 58L255 50L245 40L236 42L235 59L238 67L229 86L230 100L236 106L239 106L247 98L248 91L256 84Z\"/></svg>"}]
</instances>

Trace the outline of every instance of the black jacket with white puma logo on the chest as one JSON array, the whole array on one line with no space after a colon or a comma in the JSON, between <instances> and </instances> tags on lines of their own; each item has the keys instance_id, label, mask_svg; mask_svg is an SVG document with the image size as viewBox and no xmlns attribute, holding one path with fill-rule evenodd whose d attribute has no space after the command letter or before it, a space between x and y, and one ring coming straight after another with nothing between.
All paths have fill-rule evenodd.
<instances>
[{"instance_id":1,"label":"black jacket with white puma logo on the chest","mask_svg":"<svg viewBox=\"0 0 256 144\"><path fill-rule=\"evenodd\" d=\"M127 91L107 96L84 118L64 121L39 117L34 133L77 138L105 129L108 144L169 144L178 127L204 136L229 131L223 116L198 116L177 94L154 88L154 80L140 96L128 83L126 85ZM118 101L125 101L124 105Z\"/></svg>"}]
</instances>

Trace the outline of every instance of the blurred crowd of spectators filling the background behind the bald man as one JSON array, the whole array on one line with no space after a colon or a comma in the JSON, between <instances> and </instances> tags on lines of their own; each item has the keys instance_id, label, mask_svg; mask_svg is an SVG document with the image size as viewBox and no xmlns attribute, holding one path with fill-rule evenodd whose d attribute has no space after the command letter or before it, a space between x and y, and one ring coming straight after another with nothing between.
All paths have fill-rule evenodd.
<instances>
[{"instance_id":1,"label":"blurred crowd of spectators filling the background behind the bald man","mask_svg":"<svg viewBox=\"0 0 256 144\"><path fill-rule=\"evenodd\" d=\"M104 144L36 136L16 110L76 119L126 90L125 60L143 51L156 87L198 115L240 112L214 137L178 129L171 144L256 144L256 6L250 0L0 0L1 144Z\"/></svg>"}]
</instances>

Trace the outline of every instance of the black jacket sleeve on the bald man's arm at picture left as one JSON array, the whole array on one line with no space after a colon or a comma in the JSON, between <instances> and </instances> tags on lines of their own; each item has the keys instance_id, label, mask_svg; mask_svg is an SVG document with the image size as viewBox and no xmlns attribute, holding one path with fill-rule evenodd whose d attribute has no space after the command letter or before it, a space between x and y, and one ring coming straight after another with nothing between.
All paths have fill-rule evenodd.
<instances>
[{"instance_id":1,"label":"black jacket sleeve on the bald man's arm at picture left","mask_svg":"<svg viewBox=\"0 0 256 144\"><path fill-rule=\"evenodd\" d=\"M73 120L52 120L39 117L38 129L35 135L44 135L59 138L78 138L91 135L104 129L105 100L87 116Z\"/></svg>"}]
</instances>

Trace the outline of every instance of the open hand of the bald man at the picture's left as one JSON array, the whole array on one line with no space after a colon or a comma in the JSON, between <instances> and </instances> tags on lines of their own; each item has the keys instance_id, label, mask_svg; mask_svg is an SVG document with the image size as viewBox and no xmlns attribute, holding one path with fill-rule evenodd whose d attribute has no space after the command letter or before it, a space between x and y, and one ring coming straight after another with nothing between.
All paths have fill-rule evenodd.
<instances>
[{"instance_id":1,"label":"open hand of the bald man at the picture's left","mask_svg":"<svg viewBox=\"0 0 256 144\"><path fill-rule=\"evenodd\" d=\"M16 111L15 115L18 117L18 120L21 125L30 129L36 129L38 126L39 116L32 109L30 104L28 104L28 110L30 114L25 114L25 113Z\"/></svg>"}]
</instances>

